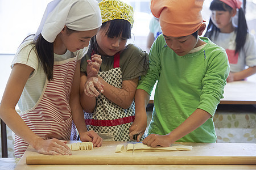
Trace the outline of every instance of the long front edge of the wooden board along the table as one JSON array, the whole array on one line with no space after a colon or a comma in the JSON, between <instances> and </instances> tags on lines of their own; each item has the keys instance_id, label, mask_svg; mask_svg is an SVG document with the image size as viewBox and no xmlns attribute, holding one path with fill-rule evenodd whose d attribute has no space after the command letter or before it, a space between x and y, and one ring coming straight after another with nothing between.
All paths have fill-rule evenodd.
<instances>
[{"instance_id":1,"label":"long front edge of the wooden board along the table","mask_svg":"<svg viewBox=\"0 0 256 170\"><path fill-rule=\"evenodd\" d=\"M246 164L255 165L256 156L27 156L30 164Z\"/></svg>"}]
</instances>

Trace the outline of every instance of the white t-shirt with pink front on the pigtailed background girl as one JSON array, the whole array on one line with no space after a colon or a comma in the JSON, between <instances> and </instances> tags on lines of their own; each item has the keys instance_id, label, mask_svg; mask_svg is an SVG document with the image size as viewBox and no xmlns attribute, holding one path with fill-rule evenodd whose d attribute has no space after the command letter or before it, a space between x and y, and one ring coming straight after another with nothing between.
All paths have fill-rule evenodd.
<instances>
[{"instance_id":1,"label":"white t-shirt with pink front on the pigtailed background girl","mask_svg":"<svg viewBox=\"0 0 256 170\"><path fill-rule=\"evenodd\" d=\"M212 41L226 50L229 58L230 71L240 72L246 66L256 66L256 44L253 35L247 33L245 45L239 54L234 54L236 50L236 33L218 33L217 39L212 36Z\"/></svg>"}]
</instances>

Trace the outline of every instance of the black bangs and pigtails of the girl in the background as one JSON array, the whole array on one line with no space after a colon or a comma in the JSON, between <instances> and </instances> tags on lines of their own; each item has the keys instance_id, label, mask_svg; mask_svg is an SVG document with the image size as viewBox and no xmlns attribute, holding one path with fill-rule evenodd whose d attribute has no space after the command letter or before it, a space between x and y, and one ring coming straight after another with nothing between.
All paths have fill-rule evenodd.
<instances>
[{"instance_id":1,"label":"black bangs and pigtails of the girl in the background","mask_svg":"<svg viewBox=\"0 0 256 170\"><path fill-rule=\"evenodd\" d=\"M213 0L212 3L210 3L210 10L231 12L233 8L230 7L229 5L226 5L226 3L222 1ZM245 12L243 11L243 8L240 8L238 10L238 24L237 24L237 28L235 28L235 31L237 34L235 53L238 53L242 49L243 45L245 45L246 36L248 33L248 27L247 27ZM205 33L204 36L209 37L209 39L211 39L212 36L215 34L214 38L216 38L219 32L220 32L220 29L218 29L216 25L213 24L212 19L210 18L209 24L207 27L207 32Z\"/></svg>"}]
</instances>

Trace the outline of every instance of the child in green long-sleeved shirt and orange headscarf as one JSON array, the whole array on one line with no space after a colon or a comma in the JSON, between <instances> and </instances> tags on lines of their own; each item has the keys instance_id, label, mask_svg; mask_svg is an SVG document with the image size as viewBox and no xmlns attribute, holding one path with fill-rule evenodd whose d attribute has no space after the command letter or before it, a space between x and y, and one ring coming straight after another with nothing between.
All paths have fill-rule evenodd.
<instances>
[{"instance_id":1,"label":"child in green long-sleeved shirt and orange headscarf","mask_svg":"<svg viewBox=\"0 0 256 170\"><path fill-rule=\"evenodd\" d=\"M150 66L135 94L135 115L146 115L158 80L150 135L143 140L148 146L216 142L213 115L223 97L229 63L223 48L199 37L206 27L202 6L201 0L151 2L152 14L160 18L163 34L150 49Z\"/></svg>"}]
</instances>

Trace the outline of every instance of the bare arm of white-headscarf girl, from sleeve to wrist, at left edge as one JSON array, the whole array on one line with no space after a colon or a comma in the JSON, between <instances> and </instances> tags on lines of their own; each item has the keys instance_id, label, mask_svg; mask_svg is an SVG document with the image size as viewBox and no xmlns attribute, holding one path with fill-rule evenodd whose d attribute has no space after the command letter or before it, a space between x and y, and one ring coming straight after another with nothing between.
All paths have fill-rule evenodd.
<instances>
[{"instance_id":1,"label":"bare arm of white-headscarf girl, from sleeve to wrist, at left edge","mask_svg":"<svg viewBox=\"0 0 256 170\"><path fill-rule=\"evenodd\" d=\"M2 97L0 105L0 117L16 135L19 135L19 137L26 141L29 145L35 147L39 136L27 126L27 124L15 111L15 106L20 99L23 88L27 83L27 79L32 71L34 71L34 69L27 65L17 63L13 66Z\"/></svg>"}]
</instances>

